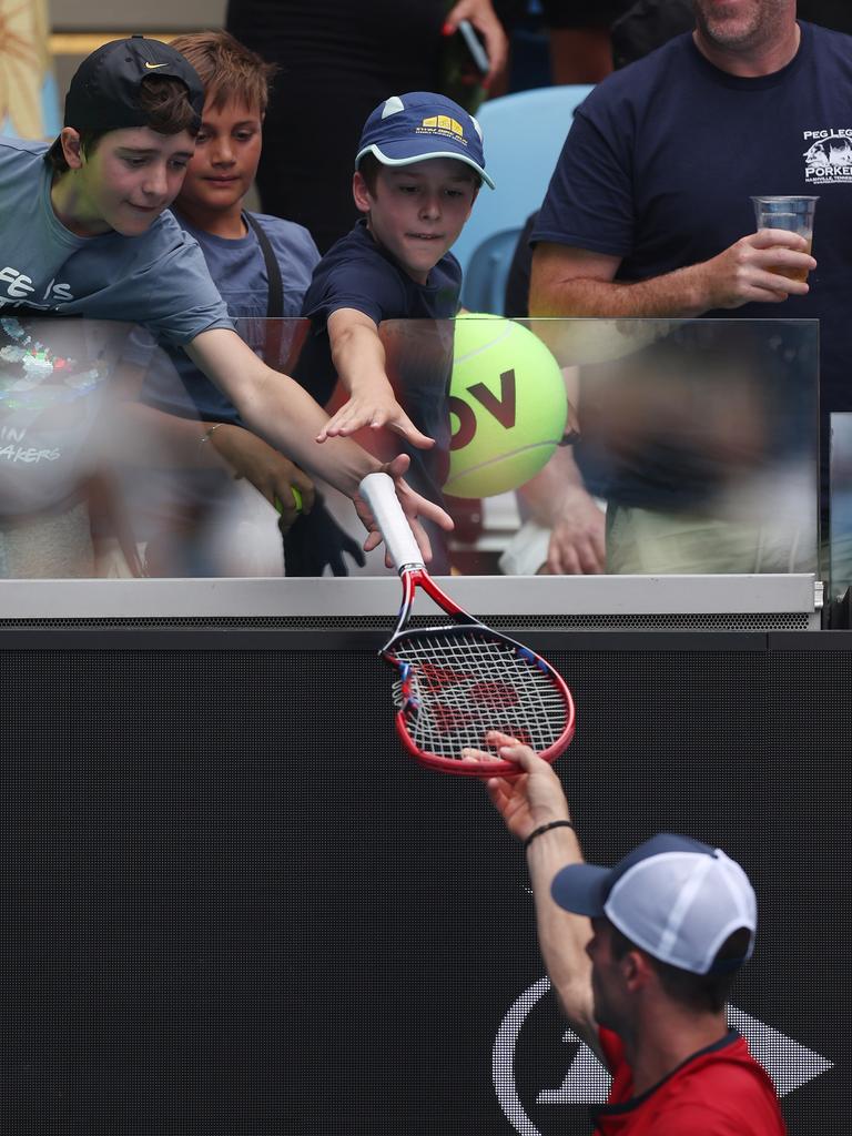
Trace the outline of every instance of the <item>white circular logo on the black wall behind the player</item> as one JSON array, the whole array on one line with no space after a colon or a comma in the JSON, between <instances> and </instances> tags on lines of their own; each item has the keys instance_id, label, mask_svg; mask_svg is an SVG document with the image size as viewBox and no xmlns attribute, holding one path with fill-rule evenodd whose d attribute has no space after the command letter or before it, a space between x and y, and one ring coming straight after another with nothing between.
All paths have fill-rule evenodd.
<instances>
[{"instance_id":1,"label":"white circular logo on the black wall behind the player","mask_svg":"<svg viewBox=\"0 0 852 1136\"><path fill-rule=\"evenodd\" d=\"M509 1009L498 1030L492 1054L492 1076L500 1106L507 1120L520 1136L542 1136L527 1114L515 1081L515 1049L524 1025L536 1003L550 989L550 979L540 978ZM760 1061L772 1078L778 1096L786 1096L834 1066L826 1058L799 1042L752 1018L736 1006L728 1006L728 1024L745 1037L752 1055ZM542 1086L536 1094L536 1105L604 1104L609 1093L610 1076L587 1045L566 1029L562 1042L571 1046L570 1063L560 1085ZM553 1131L562 1128L554 1117ZM562 1129L563 1130L563 1129Z\"/></svg>"}]
</instances>

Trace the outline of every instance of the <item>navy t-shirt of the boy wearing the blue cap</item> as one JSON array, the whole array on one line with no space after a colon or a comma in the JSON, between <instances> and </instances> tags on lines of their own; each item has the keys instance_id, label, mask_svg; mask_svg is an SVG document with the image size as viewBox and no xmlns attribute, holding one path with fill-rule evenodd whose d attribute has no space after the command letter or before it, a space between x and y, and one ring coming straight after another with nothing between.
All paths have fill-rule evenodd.
<instances>
[{"instance_id":1,"label":"navy t-shirt of the boy wearing the blue cap","mask_svg":"<svg viewBox=\"0 0 852 1136\"><path fill-rule=\"evenodd\" d=\"M302 304L302 315L311 320L311 334L295 367L295 378L320 406L331 398L337 382L327 329L333 311L353 308L377 326L390 319L452 319L459 308L460 292L461 267L452 253L441 258L426 284L418 284L374 241L366 222L360 220L332 245L314 270ZM418 429L437 442L427 451L404 443L396 450L411 457L409 479L416 488L440 501L450 446L446 392L452 336L441 337L440 328L428 328L426 337L431 346L438 345L437 352L420 351L415 345L399 352L390 350L387 368L400 406Z\"/></svg>"}]
</instances>

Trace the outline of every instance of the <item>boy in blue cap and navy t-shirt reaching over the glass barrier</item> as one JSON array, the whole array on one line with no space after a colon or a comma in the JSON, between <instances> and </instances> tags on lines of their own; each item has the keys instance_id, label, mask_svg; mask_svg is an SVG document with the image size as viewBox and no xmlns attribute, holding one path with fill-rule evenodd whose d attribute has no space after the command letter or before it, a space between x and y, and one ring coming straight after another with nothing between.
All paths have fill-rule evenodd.
<instances>
[{"instance_id":1,"label":"boy in blue cap and navy t-shirt reaching over the glass barrier","mask_svg":"<svg viewBox=\"0 0 852 1136\"><path fill-rule=\"evenodd\" d=\"M450 249L485 182L479 125L451 99L427 91L393 95L367 119L352 179L364 215L314 272L302 314L312 325L296 377L325 403L337 378L346 401L319 438L364 427L399 434L421 492L440 500L449 446L446 376L409 384L398 401L378 327L387 319L451 319L461 268ZM440 443L441 453L427 454ZM435 566L438 570L443 565Z\"/></svg>"}]
</instances>

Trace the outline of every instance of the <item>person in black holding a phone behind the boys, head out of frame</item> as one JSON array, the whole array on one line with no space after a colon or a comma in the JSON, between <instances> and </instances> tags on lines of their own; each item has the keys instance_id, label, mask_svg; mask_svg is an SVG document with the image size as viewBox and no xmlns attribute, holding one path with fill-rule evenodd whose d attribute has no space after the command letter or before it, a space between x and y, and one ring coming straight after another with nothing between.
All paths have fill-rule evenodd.
<instances>
[{"instance_id":1,"label":"person in black holding a phone behind the boys, head out of frame","mask_svg":"<svg viewBox=\"0 0 852 1136\"><path fill-rule=\"evenodd\" d=\"M442 91L449 36L482 36L491 86L508 39L492 0L229 0L227 30L281 68L258 169L264 212L303 225L321 253L358 219L351 160L361 126L394 91ZM458 100L457 100L458 101Z\"/></svg>"}]
</instances>

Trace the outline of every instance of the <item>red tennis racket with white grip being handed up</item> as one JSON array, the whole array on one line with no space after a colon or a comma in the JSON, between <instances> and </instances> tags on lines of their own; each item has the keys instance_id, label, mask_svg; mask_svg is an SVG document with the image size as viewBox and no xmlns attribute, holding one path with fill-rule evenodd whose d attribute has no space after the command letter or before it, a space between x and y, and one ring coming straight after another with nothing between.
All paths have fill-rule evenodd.
<instances>
[{"instance_id":1,"label":"red tennis racket with white grip being handed up","mask_svg":"<svg viewBox=\"0 0 852 1136\"><path fill-rule=\"evenodd\" d=\"M486 732L498 729L553 761L574 735L574 701L561 676L441 591L424 567L387 474L368 474L360 492L402 579L396 627L381 654L398 671L396 730L408 752L443 772L518 776L518 767L496 759L495 747L486 742ZM418 588L442 609L446 621L409 626ZM462 760L466 746L491 751L495 760Z\"/></svg>"}]
</instances>

